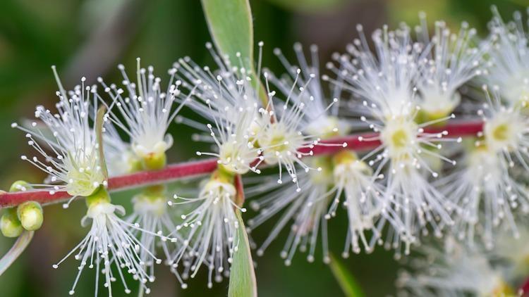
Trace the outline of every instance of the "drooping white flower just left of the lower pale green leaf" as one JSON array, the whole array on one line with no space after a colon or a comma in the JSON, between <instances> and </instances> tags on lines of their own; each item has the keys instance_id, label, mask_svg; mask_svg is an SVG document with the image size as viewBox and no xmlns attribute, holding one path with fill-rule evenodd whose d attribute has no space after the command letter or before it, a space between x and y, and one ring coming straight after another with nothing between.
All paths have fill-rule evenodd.
<instances>
[{"instance_id":1,"label":"drooping white flower just left of the lower pale green leaf","mask_svg":"<svg viewBox=\"0 0 529 297\"><path fill-rule=\"evenodd\" d=\"M236 209L245 212L233 202L236 189L227 182L211 179L200 191L197 198L183 198L175 195L172 205L188 204L196 206L186 215L183 222L176 226L181 232L183 245L171 258L175 269L183 263L186 277L190 272L195 277L202 264L207 265L207 286L213 286L213 279L221 282L222 276L229 276L229 265L233 253L238 251L241 239L238 238L239 223ZM214 278L213 278L214 275Z\"/></svg>"}]
</instances>

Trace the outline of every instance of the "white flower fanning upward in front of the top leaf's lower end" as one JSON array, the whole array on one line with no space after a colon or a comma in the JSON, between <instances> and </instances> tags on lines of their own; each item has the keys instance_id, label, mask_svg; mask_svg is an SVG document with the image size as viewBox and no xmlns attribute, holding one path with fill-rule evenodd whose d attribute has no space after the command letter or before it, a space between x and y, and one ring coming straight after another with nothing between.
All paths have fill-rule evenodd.
<instances>
[{"instance_id":1,"label":"white flower fanning upward in front of the top leaf's lower end","mask_svg":"<svg viewBox=\"0 0 529 297\"><path fill-rule=\"evenodd\" d=\"M195 100L188 106L210 121L202 125L183 117L177 118L196 127L208 135L197 136L196 140L212 141L217 146L217 153L197 152L197 155L217 157L219 165L236 174L249 170L259 172L257 165L262 161L260 148L256 145L258 87L253 82L253 74L242 65L231 66L229 59L221 59L207 44L218 70L212 72L209 67L200 68L190 58L181 58L175 64L183 86L190 89L189 96ZM260 158L258 163L255 161Z\"/></svg>"}]
</instances>

